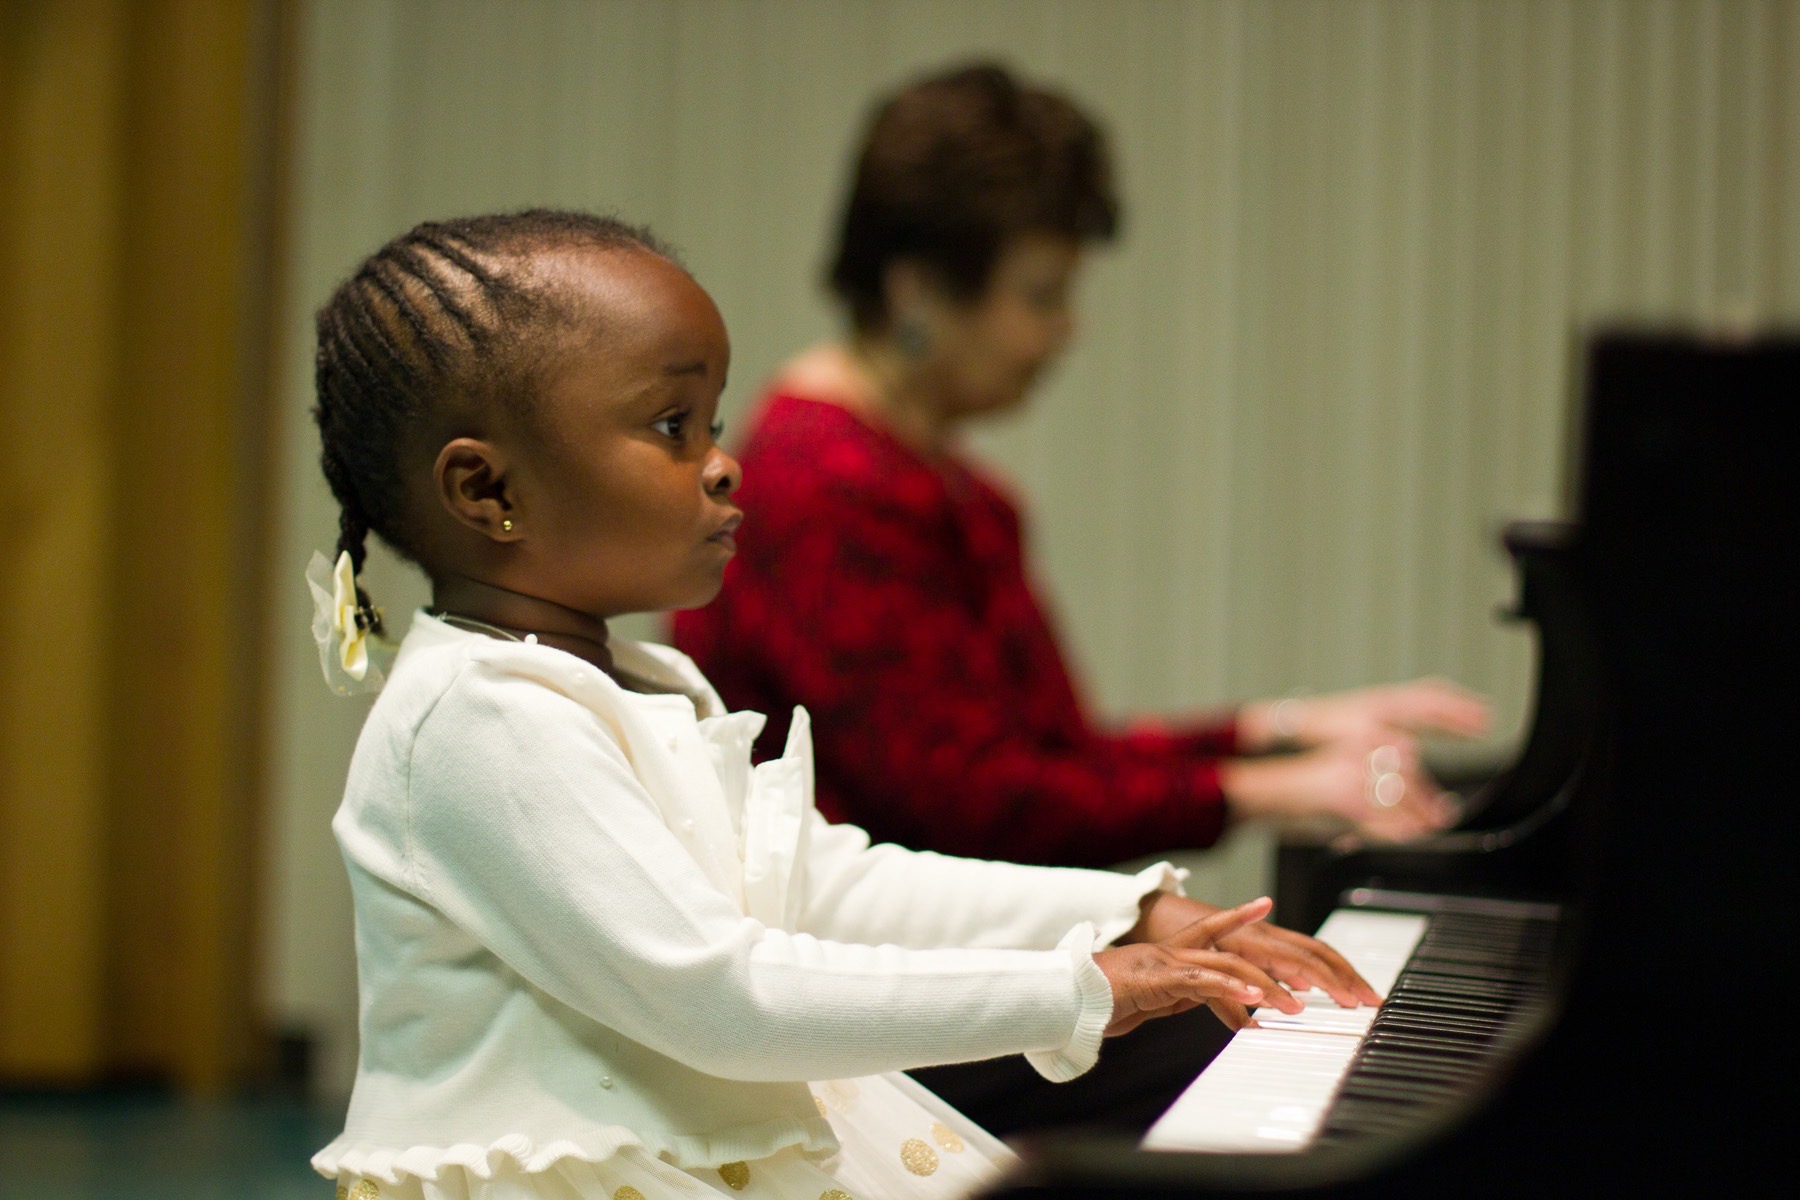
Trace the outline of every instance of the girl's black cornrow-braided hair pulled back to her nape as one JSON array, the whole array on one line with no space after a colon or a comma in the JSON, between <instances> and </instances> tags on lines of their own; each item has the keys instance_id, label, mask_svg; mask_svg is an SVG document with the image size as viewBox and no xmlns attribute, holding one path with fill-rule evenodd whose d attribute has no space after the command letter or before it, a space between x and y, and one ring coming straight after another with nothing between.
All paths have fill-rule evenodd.
<instances>
[{"instance_id":1,"label":"girl's black cornrow-braided hair pulled back to her nape","mask_svg":"<svg viewBox=\"0 0 1800 1200\"><path fill-rule=\"evenodd\" d=\"M639 248L646 228L558 209L425 221L371 254L315 318L320 466L338 502L338 552L362 574L378 534L418 561L405 513L407 439L448 405L527 405L538 351L571 320L545 250ZM358 622L382 630L356 585Z\"/></svg>"}]
</instances>

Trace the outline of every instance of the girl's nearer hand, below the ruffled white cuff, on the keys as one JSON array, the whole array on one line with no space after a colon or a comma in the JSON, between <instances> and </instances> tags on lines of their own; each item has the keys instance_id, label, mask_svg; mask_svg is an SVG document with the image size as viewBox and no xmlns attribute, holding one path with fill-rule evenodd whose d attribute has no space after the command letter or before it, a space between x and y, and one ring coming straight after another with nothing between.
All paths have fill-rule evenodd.
<instances>
[{"instance_id":1,"label":"girl's nearer hand, below the ruffled white cuff, on the keys","mask_svg":"<svg viewBox=\"0 0 1800 1200\"><path fill-rule=\"evenodd\" d=\"M1181 900L1179 896L1175 900ZM1094 964L1112 984L1112 1020L1105 1036L1130 1033L1152 1016L1174 1016L1206 1004L1229 1029L1251 1024L1249 1007L1273 1004L1283 1013L1303 1006L1260 966L1213 946L1269 916L1267 896L1237 909L1213 910L1170 937L1109 946Z\"/></svg>"}]
</instances>

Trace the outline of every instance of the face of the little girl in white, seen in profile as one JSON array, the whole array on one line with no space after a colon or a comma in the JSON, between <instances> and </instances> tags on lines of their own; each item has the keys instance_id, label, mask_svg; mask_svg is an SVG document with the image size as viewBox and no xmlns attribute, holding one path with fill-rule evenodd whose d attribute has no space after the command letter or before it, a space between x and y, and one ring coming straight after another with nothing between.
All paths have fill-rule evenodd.
<instances>
[{"instance_id":1,"label":"face of the little girl in white, seen in profile","mask_svg":"<svg viewBox=\"0 0 1800 1200\"><path fill-rule=\"evenodd\" d=\"M725 324L688 272L644 250L569 252L556 270L594 317L556 351L518 464L535 590L596 617L704 604L742 520L742 471L713 441Z\"/></svg>"}]
</instances>

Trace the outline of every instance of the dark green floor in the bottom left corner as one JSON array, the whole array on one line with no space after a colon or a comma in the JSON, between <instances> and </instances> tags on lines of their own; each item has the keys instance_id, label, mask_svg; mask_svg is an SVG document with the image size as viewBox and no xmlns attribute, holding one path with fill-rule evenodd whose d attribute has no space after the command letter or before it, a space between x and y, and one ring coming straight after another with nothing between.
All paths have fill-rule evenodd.
<instances>
[{"instance_id":1,"label":"dark green floor in the bottom left corner","mask_svg":"<svg viewBox=\"0 0 1800 1200\"><path fill-rule=\"evenodd\" d=\"M306 1160L342 1110L157 1092L0 1092L4 1200L329 1200Z\"/></svg>"}]
</instances>

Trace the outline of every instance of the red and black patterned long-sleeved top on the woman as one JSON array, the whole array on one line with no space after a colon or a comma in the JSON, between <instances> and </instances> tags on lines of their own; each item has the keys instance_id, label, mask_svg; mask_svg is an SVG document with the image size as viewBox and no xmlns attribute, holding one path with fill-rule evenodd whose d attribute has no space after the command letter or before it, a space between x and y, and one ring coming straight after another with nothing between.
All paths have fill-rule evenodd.
<instances>
[{"instance_id":1,"label":"red and black patterned long-sleeved top on the woman","mask_svg":"<svg viewBox=\"0 0 1800 1200\"><path fill-rule=\"evenodd\" d=\"M1235 725L1096 729L1028 581L1019 513L977 468L783 394L738 457L738 556L673 637L733 709L770 716L763 754L806 705L828 819L1069 865L1219 838Z\"/></svg>"}]
</instances>

